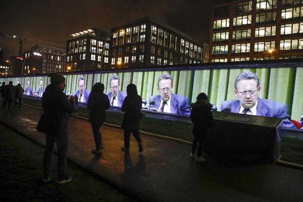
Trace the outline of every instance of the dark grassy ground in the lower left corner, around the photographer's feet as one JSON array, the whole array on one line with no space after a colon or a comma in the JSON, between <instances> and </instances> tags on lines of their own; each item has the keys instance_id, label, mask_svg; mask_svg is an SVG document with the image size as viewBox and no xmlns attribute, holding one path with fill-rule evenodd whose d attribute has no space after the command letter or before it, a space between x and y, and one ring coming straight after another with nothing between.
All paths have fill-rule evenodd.
<instances>
[{"instance_id":1,"label":"dark grassy ground in the lower left corner, around the photographer's feet","mask_svg":"<svg viewBox=\"0 0 303 202\"><path fill-rule=\"evenodd\" d=\"M70 161L71 182L59 185L57 178L42 182L43 152L40 144L0 124L1 201L137 201ZM56 165L57 155L53 157L52 165Z\"/></svg>"}]
</instances>

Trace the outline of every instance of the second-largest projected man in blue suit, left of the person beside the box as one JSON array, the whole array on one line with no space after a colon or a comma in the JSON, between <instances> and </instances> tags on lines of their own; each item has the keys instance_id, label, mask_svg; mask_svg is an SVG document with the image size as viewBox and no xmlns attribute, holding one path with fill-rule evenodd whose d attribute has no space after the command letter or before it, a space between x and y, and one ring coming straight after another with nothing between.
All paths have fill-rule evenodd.
<instances>
[{"instance_id":1,"label":"second-largest projected man in blue suit, left of the person beside the box","mask_svg":"<svg viewBox=\"0 0 303 202\"><path fill-rule=\"evenodd\" d=\"M190 115L188 98L174 94L173 78L170 74L164 73L158 80L159 95L149 97L149 107L156 108L158 112Z\"/></svg>"}]
</instances>

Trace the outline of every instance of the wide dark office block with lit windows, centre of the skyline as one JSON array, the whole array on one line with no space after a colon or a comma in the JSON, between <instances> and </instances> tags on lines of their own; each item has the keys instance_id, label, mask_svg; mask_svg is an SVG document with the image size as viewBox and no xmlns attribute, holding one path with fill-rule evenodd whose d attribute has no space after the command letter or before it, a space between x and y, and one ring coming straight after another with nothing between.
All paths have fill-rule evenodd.
<instances>
[{"instance_id":1,"label":"wide dark office block with lit windows, centre of the skyline","mask_svg":"<svg viewBox=\"0 0 303 202\"><path fill-rule=\"evenodd\" d=\"M208 44L149 17L111 31L111 51L103 62L112 69L208 62Z\"/></svg>"}]
</instances>

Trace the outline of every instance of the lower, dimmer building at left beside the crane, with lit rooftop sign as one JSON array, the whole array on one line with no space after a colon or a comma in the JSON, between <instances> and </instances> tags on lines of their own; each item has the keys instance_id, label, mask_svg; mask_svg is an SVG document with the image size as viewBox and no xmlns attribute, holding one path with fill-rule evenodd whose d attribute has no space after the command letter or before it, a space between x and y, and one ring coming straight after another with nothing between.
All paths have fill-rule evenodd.
<instances>
[{"instance_id":1,"label":"lower, dimmer building at left beside the crane, with lit rooftop sign","mask_svg":"<svg viewBox=\"0 0 303 202\"><path fill-rule=\"evenodd\" d=\"M36 45L25 52L21 75L65 72L66 50L45 45Z\"/></svg>"}]
</instances>

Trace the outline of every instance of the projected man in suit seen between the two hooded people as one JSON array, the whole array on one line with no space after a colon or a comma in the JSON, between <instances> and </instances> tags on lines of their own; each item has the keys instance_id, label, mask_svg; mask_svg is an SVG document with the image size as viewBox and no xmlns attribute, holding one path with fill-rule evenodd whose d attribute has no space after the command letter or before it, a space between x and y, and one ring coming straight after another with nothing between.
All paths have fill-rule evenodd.
<instances>
[{"instance_id":1,"label":"projected man in suit seen between the two hooded people","mask_svg":"<svg viewBox=\"0 0 303 202\"><path fill-rule=\"evenodd\" d=\"M122 107L122 103L127 96L126 92L120 91L120 80L119 77L114 74L110 80L111 92L107 92L111 106Z\"/></svg>"}]
</instances>

